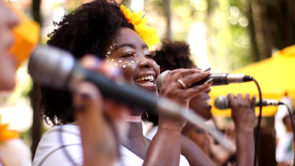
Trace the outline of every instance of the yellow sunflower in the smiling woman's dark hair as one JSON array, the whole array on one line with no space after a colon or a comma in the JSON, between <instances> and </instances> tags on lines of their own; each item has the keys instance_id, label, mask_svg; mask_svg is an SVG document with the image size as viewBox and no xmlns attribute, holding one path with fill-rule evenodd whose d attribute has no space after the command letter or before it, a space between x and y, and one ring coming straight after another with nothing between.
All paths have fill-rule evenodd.
<instances>
[{"instance_id":1,"label":"yellow sunflower in the smiling woman's dark hair","mask_svg":"<svg viewBox=\"0 0 295 166\"><path fill-rule=\"evenodd\" d=\"M150 48L151 45L160 43L158 32L154 27L148 26L148 19L145 17L145 12L133 13L126 6L120 6L125 18L134 26L135 32Z\"/></svg>"}]
</instances>

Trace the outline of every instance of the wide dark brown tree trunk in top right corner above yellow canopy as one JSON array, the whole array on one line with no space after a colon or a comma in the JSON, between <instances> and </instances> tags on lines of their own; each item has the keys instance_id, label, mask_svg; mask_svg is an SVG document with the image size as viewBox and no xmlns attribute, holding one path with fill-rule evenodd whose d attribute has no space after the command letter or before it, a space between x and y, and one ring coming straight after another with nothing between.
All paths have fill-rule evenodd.
<instances>
[{"instance_id":1,"label":"wide dark brown tree trunk in top right corner above yellow canopy","mask_svg":"<svg viewBox=\"0 0 295 166\"><path fill-rule=\"evenodd\" d=\"M295 44L295 2L293 0L253 0L253 21L260 59L274 48Z\"/></svg>"}]
</instances>

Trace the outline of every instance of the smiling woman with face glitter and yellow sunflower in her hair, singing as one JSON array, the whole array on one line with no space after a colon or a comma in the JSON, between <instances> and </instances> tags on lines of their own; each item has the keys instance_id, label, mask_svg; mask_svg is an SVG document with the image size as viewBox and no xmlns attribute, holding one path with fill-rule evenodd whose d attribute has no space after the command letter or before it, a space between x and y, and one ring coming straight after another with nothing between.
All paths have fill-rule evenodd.
<instances>
[{"instance_id":1,"label":"smiling woman with face glitter and yellow sunflower in her hair, singing","mask_svg":"<svg viewBox=\"0 0 295 166\"><path fill-rule=\"evenodd\" d=\"M155 96L163 95L188 107L190 99L208 89L212 80L196 87L186 87L207 77L210 70L171 71L158 93L154 80L160 70L152 59L155 54L149 51L149 47L158 43L159 39L156 30L146 25L144 14L132 13L125 6L119 7L114 1L95 0L83 4L71 14L65 15L61 22L55 23L58 28L49 35L50 40L47 43L70 51L77 59L83 59L89 54L98 57L109 66L120 69L125 81L135 89L148 89ZM67 91L47 87L42 87L41 91L45 121L50 121L55 127L40 141L33 165L82 165L85 150L82 150L83 138L81 143L80 128L74 114L73 96ZM109 104L109 99L104 101L104 109L108 109L104 118L108 121L108 113L120 110L121 106ZM130 109L129 115L125 117L130 129L125 134L125 141L121 141L118 147L121 157L117 164L189 165L185 157L180 155L181 130L186 121L160 113L159 129L151 141L142 134L142 112L144 109ZM112 123L108 122L107 124ZM83 124L83 121L79 124ZM113 126L110 130L115 128L114 133L122 135L120 125L110 126ZM105 144L99 144L96 150L106 150L107 142L118 139L117 134L113 135L114 139L105 139ZM93 135L96 135L95 131Z\"/></svg>"}]
</instances>

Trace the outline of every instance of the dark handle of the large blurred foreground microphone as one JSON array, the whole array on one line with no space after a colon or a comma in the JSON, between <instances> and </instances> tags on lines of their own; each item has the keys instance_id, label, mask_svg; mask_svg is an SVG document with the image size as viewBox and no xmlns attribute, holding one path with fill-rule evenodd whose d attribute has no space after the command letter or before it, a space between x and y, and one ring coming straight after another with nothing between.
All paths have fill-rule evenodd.
<instances>
[{"instance_id":1,"label":"dark handle of the large blurred foreground microphone","mask_svg":"<svg viewBox=\"0 0 295 166\"><path fill-rule=\"evenodd\" d=\"M146 89L135 88L128 83L118 85L101 73L90 71L77 65L73 69L72 77L73 75L86 76L83 79L99 87L99 90L105 97L110 97L117 102L127 103L132 108L156 110L158 97Z\"/></svg>"}]
</instances>

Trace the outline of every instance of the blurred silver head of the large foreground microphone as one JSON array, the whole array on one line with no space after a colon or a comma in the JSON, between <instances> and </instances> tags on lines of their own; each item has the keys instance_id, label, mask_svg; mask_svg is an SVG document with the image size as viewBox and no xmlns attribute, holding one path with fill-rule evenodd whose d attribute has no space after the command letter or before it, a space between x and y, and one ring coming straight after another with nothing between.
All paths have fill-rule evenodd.
<instances>
[{"instance_id":1,"label":"blurred silver head of the large foreground microphone","mask_svg":"<svg viewBox=\"0 0 295 166\"><path fill-rule=\"evenodd\" d=\"M44 86L62 88L73 70L75 59L66 51L51 46L35 49L28 70L33 80Z\"/></svg>"}]
</instances>

